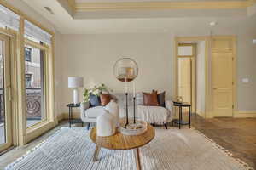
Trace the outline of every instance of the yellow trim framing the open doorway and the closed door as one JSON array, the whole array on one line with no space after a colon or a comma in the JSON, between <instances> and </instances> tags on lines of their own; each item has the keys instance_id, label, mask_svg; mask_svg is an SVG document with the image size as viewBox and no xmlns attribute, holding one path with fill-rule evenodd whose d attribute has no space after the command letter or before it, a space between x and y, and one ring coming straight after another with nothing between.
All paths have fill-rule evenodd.
<instances>
[{"instance_id":1,"label":"yellow trim framing the open doorway and the closed door","mask_svg":"<svg viewBox=\"0 0 256 170\"><path fill-rule=\"evenodd\" d=\"M214 36L214 37L223 37L223 38L233 38L233 117L237 111L237 78L236 78L236 36ZM205 71L206 71L206 91L205 91L205 112L201 113L200 116L204 118L212 118L214 115L212 114L212 68L211 68L211 59L212 59L212 36L205 36L205 37L174 37L173 43L173 65L172 65L172 94L173 97L177 96L177 48L179 42L191 42L191 41L205 41L206 42L206 50L205 50Z\"/></svg>"}]
</instances>

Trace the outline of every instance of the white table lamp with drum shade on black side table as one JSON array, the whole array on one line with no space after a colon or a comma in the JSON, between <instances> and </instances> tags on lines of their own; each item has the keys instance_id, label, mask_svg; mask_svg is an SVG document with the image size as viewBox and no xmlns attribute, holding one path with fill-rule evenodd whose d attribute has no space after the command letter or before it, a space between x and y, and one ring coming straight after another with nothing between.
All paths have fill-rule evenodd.
<instances>
[{"instance_id":1,"label":"white table lamp with drum shade on black side table","mask_svg":"<svg viewBox=\"0 0 256 170\"><path fill-rule=\"evenodd\" d=\"M79 104L79 89L84 86L83 77L68 77L68 88L73 88L73 104Z\"/></svg>"}]
</instances>

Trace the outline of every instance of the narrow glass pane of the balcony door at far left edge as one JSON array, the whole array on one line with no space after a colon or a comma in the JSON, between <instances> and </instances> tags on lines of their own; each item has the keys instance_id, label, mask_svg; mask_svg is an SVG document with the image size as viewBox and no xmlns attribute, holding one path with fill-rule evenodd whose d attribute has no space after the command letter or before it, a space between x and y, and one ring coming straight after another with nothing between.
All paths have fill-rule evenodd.
<instances>
[{"instance_id":1,"label":"narrow glass pane of the balcony door at far left edge","mask_svg":"<svg viewBox=\"0 0 256 170\"><path fill-rule=\"evenodd\" d=\"M0 144L6 143L6 134L5 134L5 115L4 115L4 98L3 98L3 88L4 88L4 79L3 79L3 41L0 40Z\"/></svg>"}]
</instances>

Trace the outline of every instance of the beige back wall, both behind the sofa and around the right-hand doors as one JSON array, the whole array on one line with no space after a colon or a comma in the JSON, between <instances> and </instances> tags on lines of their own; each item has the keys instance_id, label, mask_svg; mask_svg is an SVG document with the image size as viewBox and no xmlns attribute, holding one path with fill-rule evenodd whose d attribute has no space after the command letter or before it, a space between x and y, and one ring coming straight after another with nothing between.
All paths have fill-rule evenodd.
<instances>
[{"instance_id":1,"label":"beige back wall, both behind the sofa and around the right-hand doors","mask_svg":"<svg viewBox=\"0 0 256 170\"><path fill-rule=\"evenodd\" d=\"M237 35L237 92L238 110L256 111L255 105L255 45L253 32L227 31L218 29L215 35ZM191 31L178 36L207 36ZM116 92L124 90L124 84L113 77L114 62L123 57L137 61L139 76L138 91L166 90L168 98L172 89L172 33L121 33L97 35L62 35L62 111L72 101L72 90L67 88L67 77L84 77L84 87L104 82ZM247 84L241 77L250 77ZM82 99L82 97L81 97ZM203 109L203 107L201 108Z\"/></svg>"}]
</instances>

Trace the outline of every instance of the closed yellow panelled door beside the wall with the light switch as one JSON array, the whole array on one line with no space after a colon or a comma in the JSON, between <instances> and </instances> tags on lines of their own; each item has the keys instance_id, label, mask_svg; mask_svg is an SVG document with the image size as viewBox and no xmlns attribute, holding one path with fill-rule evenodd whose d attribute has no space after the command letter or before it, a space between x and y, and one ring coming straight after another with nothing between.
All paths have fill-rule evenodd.
<instances>
[{"instance_id":1,"label":"closed yellow panelled door beside the wall with the light switch","mask_svg":"<svg viewBox=\"0 0 256 170\"><path fill-rule=\"evenodd\" d=\"M212 38L212 113L233 116L233 39Z\"/></svg>"}]
</instances>

